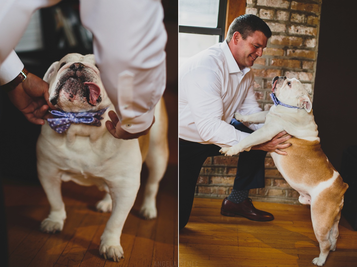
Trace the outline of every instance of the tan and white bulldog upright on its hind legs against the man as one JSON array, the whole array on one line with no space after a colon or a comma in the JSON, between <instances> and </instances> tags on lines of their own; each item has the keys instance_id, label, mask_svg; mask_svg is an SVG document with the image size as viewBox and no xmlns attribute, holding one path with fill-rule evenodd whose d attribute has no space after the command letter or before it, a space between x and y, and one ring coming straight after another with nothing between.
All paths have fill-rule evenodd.
<instances>
[{"instance_id":1,"label":"tan and white bulldog upright on its hind legs against the man","mask_svg":"<svg viewBox=\"0 0 357 267\"><path fill-rule=\"evenodd\" d=\"M330 250L336 249L343 195L348 185L321 149L311 98L302 83L295 78L275 77L272 98L276 105L269 111L251 115L235 113L241 122L264 125L220 152L227 156L238 154L271 140L282 131L293 136L286 142L291 146L282 149L287 155L272 152L271 156L288 184L300 193L299 201L311 205L312 226L320 244L320 255L312 263L322 266Z\"/></svg>"}]
</instances>

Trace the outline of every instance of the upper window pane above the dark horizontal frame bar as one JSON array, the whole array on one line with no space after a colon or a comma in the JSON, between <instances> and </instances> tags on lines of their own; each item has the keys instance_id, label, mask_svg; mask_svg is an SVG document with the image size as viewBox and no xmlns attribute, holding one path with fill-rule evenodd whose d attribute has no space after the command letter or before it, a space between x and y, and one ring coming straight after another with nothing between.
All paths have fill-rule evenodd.
<instances>
[{"instance_id":1,"label":"upper window pane above the dark horizontal frame bar","mask_svg":"<svg viewBox=\"0 0 357 267\"><path fill-rule=\"evenodd\" d=\"M178 24L216 28L219 0L179 0Z\"/></svg>"}]
</instances>

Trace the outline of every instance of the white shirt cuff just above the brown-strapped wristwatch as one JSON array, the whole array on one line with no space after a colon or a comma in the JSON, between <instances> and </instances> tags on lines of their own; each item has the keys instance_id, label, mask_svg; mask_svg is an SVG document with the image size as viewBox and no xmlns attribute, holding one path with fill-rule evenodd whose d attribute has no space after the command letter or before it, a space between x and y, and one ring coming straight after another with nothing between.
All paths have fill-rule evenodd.
<instances>
[{"instance_id":1,"label":"white shirt cuff just above the brown-strapped wristwatch","mask_svg":"<svg viewBox=\"0 0 357 267\"><path fill-rule=\"evenodd\" d=\"M11 82L23 70L24 64L12 50L9 56L0 65L0 85Z\"/></svg>"}]
</instances>

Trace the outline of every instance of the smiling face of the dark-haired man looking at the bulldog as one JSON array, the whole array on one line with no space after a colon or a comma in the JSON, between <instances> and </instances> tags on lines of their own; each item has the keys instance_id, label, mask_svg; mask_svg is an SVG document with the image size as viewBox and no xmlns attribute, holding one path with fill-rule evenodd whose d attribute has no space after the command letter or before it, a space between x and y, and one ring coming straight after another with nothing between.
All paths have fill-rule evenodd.
<instances>
[{"instance_id":1,"label":"smiling face of the dark-haired man looking at the bulldog","mask_svg":"<svg viewBox=\"0 0 357 267\"><path fill-rule=\"evenodd\" d=\"M255 31L243 40L239 32L233 34L230 49L238 67L251 67L254 61L263 55L263 48L267 46L268 38L261 32Z\"/></svg>"}]
</instances>

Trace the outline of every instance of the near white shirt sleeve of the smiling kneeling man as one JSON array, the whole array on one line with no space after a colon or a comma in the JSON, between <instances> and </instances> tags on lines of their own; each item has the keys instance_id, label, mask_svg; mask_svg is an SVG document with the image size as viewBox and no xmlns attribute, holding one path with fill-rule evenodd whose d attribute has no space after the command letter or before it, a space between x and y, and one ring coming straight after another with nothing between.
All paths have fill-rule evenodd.
<instances>
[{"instance_id":1,"label":"near white shirt sleeve of the smiling kneeling man","mask_svg":"<svg viewBox=\"0 0 357 267\"><path fill-rule=\"evenodd\" d=\"M222 120L222 77L206 67L198 67L187 72L185 76L182 86L185 87L188 106L198 134L205 142L227 147L237 144L249 135Z\"/></svg>"}]
</instances>

